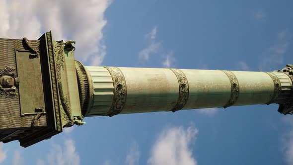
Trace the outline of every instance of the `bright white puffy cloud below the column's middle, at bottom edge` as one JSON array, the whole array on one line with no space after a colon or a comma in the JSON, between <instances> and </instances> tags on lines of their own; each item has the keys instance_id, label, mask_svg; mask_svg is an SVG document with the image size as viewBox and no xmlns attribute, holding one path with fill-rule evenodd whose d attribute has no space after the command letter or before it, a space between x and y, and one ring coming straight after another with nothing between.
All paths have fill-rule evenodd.
<instances>
[{"instance_id":1,"label":"bright white puffy cloud below the column's middle, at bottom edge","mask_svg":"<svg viewBox=\"0 0 293 165\"><path fill-rule=\"evenodd\" d=\"M148 165L197 165L192 155L192 144L198 129L174 127L160 133L152 146Z\"/></svg>"}]
</instances>

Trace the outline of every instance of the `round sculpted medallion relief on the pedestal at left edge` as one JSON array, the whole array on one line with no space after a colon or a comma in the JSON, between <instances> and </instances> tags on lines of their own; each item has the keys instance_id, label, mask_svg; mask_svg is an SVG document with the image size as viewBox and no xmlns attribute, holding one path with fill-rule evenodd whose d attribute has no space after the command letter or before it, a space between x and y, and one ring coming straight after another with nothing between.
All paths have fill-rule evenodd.
<instances>
[{"instance_id":1,"label":"round sculpted medallion relief on the pedestal at left edge","mask_svg":"<svg viewBox=\"0 0 293 165\"><path fill-rule=\"evenodd\" d=\"M0 69L0 96L5 98L16 98L18 96L16 85L19 84L19 80L15 72L16 69L9 66Z\"/></svg>"}]
</instances>

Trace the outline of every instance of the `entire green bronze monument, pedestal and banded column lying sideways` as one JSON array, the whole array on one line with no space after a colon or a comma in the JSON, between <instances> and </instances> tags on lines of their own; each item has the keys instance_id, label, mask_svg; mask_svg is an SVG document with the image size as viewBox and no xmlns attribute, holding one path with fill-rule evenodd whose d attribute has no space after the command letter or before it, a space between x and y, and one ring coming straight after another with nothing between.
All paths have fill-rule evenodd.
<instances>
[{"instance_id":1,"label":"entire green bronze monument, pedestal and banded column lying sideways","mask_svg":"<svg viewBox=\"0 0 293 165\"><path fill-rule=\"evenodd\" d=\"M274 72L85 67L75 41L0 39L0 141L28 147L83 117L278 103L293 114L293 65Z\"/></svg>"}]
</instances>

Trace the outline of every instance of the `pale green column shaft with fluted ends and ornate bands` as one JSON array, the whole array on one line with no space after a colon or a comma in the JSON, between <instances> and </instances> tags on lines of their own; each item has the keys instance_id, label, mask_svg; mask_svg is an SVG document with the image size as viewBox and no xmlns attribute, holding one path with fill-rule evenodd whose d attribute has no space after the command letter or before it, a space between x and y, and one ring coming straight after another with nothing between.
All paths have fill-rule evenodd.
<instances>
[{"instance_id":1,"label":"pale green column shaft with fluted ends and ornate bands","mask_svg":"<svg viewBox=\"0 0 293 165\"><path fill-rule=\"evenodd\" d=\"M292 80L281 72L85 69L92 82L86 116L280 103L292 91Z\"/></svg>"}]
</instances>

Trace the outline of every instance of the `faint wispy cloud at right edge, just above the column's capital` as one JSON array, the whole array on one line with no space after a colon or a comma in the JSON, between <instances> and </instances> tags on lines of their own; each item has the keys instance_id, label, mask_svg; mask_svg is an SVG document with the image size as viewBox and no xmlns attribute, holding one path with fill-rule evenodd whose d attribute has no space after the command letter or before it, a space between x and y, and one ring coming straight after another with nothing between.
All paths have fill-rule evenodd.
<instances>
[{"instance_id":1,"label":"faint wispy cloud at right edge, just above the column's capital","mask_svg":"<svg viewBox=\"0 0 293 165\"><path fill-rule=\"evenodd\" d=\"M288 51L292 33L288 30L283 30L278 33L277 41L269 48L269 53L266 57L262 57L263 61L259 66L259 70L267 70L273 64L284 63L284 54Z\"/></svg>"}]
</instances>

